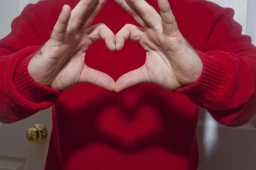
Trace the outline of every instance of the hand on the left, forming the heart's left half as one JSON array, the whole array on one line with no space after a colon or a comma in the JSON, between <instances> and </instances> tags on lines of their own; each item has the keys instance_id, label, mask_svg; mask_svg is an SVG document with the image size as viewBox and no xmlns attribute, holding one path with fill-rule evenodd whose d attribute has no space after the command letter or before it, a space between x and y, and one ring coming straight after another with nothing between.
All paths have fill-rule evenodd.
<instances>
[{"instance_id":1,"label":"hand on the left, forming the heart's left half","mask_svg":"<svg viewBox=\"0 0 256 170\"><path fill-rule=\"evenodd\" d=\"M88 82L113 91L115 81L107 74L87 67L84 57L90 45L103 39L114 51L115 34L104 24L87 29L107 0L81 0L71 11L65 5L50 40L30 60L29 74L36 82L63 91Z\"/></svg>"}]
</instances>

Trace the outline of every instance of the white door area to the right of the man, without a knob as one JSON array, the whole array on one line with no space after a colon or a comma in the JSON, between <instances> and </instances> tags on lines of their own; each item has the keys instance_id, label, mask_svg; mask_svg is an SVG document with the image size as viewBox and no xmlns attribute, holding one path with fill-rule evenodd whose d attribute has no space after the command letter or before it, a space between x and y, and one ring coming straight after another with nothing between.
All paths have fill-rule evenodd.
<instances>
[{"instance_id":1,"label":"white door area to the right of the man, without a knob","mask_svg":"<svg viewBox=\"0 0 256 170\"><path fill-rule=\"evenodd\" d=\"M242 33L250 35L256 45L256 0L209 1L233 8ZM201 109L197 140L198 170L256 170L256 116L242 127L224 127Z\"/></svg>"}]
</instances>

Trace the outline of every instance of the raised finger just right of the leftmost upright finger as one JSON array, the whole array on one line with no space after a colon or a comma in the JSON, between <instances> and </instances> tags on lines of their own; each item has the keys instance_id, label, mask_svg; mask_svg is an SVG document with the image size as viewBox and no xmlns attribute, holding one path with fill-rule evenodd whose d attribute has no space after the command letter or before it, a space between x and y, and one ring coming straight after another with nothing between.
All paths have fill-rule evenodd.
<instances>
[{"instance_id":1,"label":"raised finger just right of the leftmost upright finger","mask_svg":"<svg viewBox=\"0 0 256 170\"><path fill-rule=\"evenodd\" d=\"M77 31L84 19L88 8L93 3L93 0L80 0L76 7L71 12L70 21L67 27L67 32L73 34Z\"/></svg>"}]
</instances>

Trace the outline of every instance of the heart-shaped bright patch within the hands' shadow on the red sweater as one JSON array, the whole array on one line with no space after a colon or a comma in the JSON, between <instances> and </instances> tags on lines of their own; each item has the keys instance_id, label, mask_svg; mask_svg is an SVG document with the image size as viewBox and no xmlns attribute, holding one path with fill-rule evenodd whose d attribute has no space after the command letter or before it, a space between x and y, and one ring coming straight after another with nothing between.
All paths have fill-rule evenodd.
<instances>
[{"instance_id":1,"label":"heart-shaped bright patch within the hands' shadow on the red sweater","mask_svg":"<svg viewBox=\"0 0 256 170\"><path fill-rule=\"evenodd\" d=\"M133 118L129 120L127 116ZM126 146L132 146L140 139L155 136L163 130L163 122L151 106L141 107L130 115L125 115L120 108L106 108L100 113L96 126L105 136L112 136Z\"/></svg>"}]
</instances>

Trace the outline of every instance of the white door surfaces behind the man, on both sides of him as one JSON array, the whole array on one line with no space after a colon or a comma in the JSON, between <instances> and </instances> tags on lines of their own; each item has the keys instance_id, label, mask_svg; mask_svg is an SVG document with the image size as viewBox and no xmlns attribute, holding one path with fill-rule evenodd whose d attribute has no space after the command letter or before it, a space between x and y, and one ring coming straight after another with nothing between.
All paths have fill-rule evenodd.
<instances>
[{"instance_id":1,"label":"white door surfaces behind the man, on both sides of him","mask_svg":"<svg viewBox=\"0 0 256 170\"><path fill-rule=\"evenodd\" d=\"M211 0L236 11L235 19L256 44L256 0ZM0 39L11 30L11 22L28 3L38 0L0 0ZM255 111L256 112L256 111ZM29 143L26 130L35 124L47 128L47 140ZM256 117L247 125L229 128L219 125L201 109L197 139L199 170L255 170ZM52 128L51 110L11 125L0 124L0 170L44 170Z\"/></svg>"}]
</instances>

